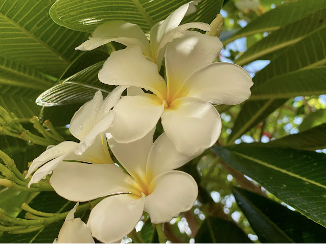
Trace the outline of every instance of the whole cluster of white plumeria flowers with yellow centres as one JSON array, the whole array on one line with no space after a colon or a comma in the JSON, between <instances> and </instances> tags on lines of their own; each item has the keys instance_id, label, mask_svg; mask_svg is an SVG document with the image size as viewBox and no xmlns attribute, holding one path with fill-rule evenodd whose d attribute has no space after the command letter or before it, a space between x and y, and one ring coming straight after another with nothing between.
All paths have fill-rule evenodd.
<instances>
[{"instance_id":1,"label":"whole cluster of white plumeria flowers with yellow centres","mask_svg":"<svg viewBox=\"0 0 326 244\"><path fill-rule=\"evenodd\" d=\"M175 169L217 141L221 118L213 104L235 105L250 96L252 81L244 69L214 62L222 49L218 37L189 31L209 32L210 26L180 25L198 2L182 5L154 25L150 42L138 26L119 20L99 26L77 47L92 50L111 41L127 46L113 52L99 72L101 82L117 88L106 99L96 92L69 127L80 142L46 150L33 161L27 178L39 168L29 186L53 172L50 183L65 199L105 197L83 228L102 242L120 241L144 211L159 224L191 209L196 181ZM163 60L166 79L159 75ZM153 142L159 119L164 133Z\"/></svg>"}]
</instances>

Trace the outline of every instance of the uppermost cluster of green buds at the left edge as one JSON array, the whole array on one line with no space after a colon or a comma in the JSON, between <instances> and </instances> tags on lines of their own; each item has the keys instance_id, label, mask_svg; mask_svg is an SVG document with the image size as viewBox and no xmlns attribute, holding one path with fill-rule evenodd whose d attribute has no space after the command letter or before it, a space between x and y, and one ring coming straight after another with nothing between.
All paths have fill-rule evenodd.
<instances>
[{"instance_id":1,"label":"uppermost cluster of green buds at the left edge","mask_svg":"<svg viewBox=\"0 0 326 244\"><path fill-rule=\"evenodd\" d=\"M42 135L37 136L26 130L19 122L15 114L8 112L0 106L0 134L13 136L28 141L30 145L55 145L64 141L64 138L54 129L50 120L44 121L43 125L37 116L30 119L34 128Z\"/></svg>"}]
</instances>

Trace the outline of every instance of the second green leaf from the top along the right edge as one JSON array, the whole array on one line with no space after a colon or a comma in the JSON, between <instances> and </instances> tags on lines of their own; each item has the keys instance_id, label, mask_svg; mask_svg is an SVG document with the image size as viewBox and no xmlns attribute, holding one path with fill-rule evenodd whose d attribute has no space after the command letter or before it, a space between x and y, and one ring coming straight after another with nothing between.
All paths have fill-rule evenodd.
<instances>
[{"instance_id":1,"label":"second green leaf from the top along the right edge","mask_svg":"<svg viewBox=\"0 0 326 244\"><path fill-rule=\"evenodd\" d=\"M324 24L323 17L325 15L326 9L321 9L272 32L266 38L263 38L255 45L251 46L247 52L235 61L235 63L242 66L257 59L266 59L264 56L273 52L278 52L282 48L298 42L305 38L307 34L322 26Z\"/></svg>"}]
</instances>

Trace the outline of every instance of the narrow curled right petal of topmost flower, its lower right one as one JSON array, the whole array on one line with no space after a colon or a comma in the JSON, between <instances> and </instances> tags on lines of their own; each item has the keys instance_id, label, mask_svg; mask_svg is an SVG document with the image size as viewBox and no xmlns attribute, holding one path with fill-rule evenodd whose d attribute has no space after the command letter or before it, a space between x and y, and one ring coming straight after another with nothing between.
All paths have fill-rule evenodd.
<instances>
[{"instance_id":1,"label":"narrow curled right petal of topmost flower, its lower right one","mask_svg":"<svg viewBox=\"0 0 326 244\"><path fill-rule=\"evenodd\" d=\"M164 53L166 51L166 45L169 42L172 42L174 39L183 37L187 33L187 31L191 28L195 28L203 31L211 30L211 27L207 23L193 22L193 23L185 23L184 25L181 25L169 31L159 43L157 56L156 56L157 65L162 63Z\"/></svg>"}]
</instances>

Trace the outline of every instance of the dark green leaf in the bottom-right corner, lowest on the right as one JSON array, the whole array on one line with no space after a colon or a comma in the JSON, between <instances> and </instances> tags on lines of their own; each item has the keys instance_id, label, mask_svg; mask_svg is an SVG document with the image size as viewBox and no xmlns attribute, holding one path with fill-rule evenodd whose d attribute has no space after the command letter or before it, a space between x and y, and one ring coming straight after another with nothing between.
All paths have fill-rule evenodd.
<instances>
[{"instance_id":1,"label":"dark green leaf in the bottom-right corner, lowest on the right","mask_svg":"<svg viewBox=\"0 0 326 244\"><path fill-rule=\"evenodd\" d=\"M271 238L280 236L270 236L269 228L263 229L263 223L257 222L257 218L266 219L296 243L324 243L326 241L326 229L300 213L243 189L235 189L233 194L261 242L267 240L269 243L277 243Z\"/></svg>"}]
</instances>

